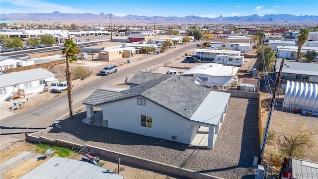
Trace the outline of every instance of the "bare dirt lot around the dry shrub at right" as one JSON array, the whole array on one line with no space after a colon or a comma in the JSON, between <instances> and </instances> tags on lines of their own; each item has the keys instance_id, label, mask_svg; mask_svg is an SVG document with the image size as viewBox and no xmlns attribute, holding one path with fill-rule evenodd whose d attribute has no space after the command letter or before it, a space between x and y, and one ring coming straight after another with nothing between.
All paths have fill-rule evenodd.
<instances>
[{"instance_id":1,"label":"bare dirt lot around the dry shrub at right","mask_svg":"<svg viewBox=\"0 0 318 179\"><path fill-rule=\"evenodd\" d=\"M283 100L284 95L278 96L278 101ZM265 127L266 120L268 116L268 105L269 99L271 96L268 93L261 93L261 103L262 103L262 126ZM312 144L314 146L312 148L304 148L305 151L305 160L318 162L318 118L314 116L307 116L302 114L295 114L289 109L282 109L280 106L277 106L277 110L274 110L270 131L275 131L275 136L272 140L268 140L265 147L265 157L270 160L270 154L276 156L278 158L283 159L283 156L280 154L280 145L284 141L283 134L286 136L290 136L293 131L310 131ZM297 158L297 157L296 157Z\"/></svg>"}]
</instances>

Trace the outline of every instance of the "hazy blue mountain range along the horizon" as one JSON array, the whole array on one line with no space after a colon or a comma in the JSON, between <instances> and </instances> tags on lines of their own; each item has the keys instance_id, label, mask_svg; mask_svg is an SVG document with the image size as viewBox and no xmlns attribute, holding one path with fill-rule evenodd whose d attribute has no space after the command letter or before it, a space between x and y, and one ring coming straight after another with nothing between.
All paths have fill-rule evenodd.
<instances>
[{"instance_id":1,"label":"hazy blue mountain range along the horizon","mask_svg":"<svg viewBox=\"0 0 318 179\"><path fill-rule=\"evenodd\" d=\"M164 16L139 16L139 15L126 15L123 17L112 15L112 20L115 24L120 23L142 23L151 24L154 21L157 24L171 24L171 23L317 23L317 15L301 15L295 16L291 14L269 14L264 16L258 16L257 14L248 16L234 16L224 17L219 16L216 18L199 17L189 15L185 17L164 17ZM4 20L16 20L16 21L61 21L61 23L81 23L81 24L96 24L98 22L110 23L110 14L93 14L93 13L60 13L55 11L53 13L10 13L0 14L0 19Z\"/></svg>"}]
</instances>

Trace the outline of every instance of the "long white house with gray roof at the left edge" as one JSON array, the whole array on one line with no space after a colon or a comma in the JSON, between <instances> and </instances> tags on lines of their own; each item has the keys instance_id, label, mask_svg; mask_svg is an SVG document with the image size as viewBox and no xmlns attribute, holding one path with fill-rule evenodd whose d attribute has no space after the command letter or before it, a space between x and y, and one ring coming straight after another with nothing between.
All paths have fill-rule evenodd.
<instances>
[{"instance_id":1,"label":"long white house with gray roof at the left edge","mask_svg":"<svg viewBox=\"0 0 318 179\"><path fill-rule=\"evenodd\" d=\"M32 69L0 75L0 100L18 92L30 94L43 91L46 81L54 81L55 74L43 69Z\"/></svg>"}]
</instances>

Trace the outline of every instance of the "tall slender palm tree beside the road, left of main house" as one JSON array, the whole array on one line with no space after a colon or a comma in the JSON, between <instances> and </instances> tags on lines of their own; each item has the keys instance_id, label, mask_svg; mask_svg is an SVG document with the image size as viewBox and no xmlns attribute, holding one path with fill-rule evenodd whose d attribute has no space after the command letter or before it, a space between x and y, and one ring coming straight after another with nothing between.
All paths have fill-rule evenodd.
<instances>
[{"instance_id":1,"label":"tall slender palm tree beside the road, left of main house","mask_svg":"<svg viewBox=\"0 0 318 179\"><path fill-rule=\"evenodd\" d=\"M70 119L73 119L73 94L72 94L72 73L70 71L70 62L77 61L75 57L76 54L79 54L81 51L78 49L78 44L74 43L72 39L67 40L64 43L64 49L62 53L66 57L66 81L68 84L68 98L69 98L69 109L70 109Z\"/></svg>"}]
</instances>

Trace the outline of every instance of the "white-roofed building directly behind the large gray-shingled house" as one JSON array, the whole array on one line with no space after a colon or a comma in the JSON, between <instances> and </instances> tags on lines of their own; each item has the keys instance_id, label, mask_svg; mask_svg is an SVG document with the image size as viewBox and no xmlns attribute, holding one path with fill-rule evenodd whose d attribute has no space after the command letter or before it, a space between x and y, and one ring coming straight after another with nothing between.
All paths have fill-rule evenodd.
<instances>
[{"instance_id":1,"label":"white-roofed building directly behind the large gray-shingled house","mask_svg":"<svg viewBox=\"0 0 318 179\"><path fill-rule=\"evenodd\" d=\"M181 75L197 77L203 86L231 86L238 71L239 67L209 63L197 65Z\"/></svg>"}]
</instances>

